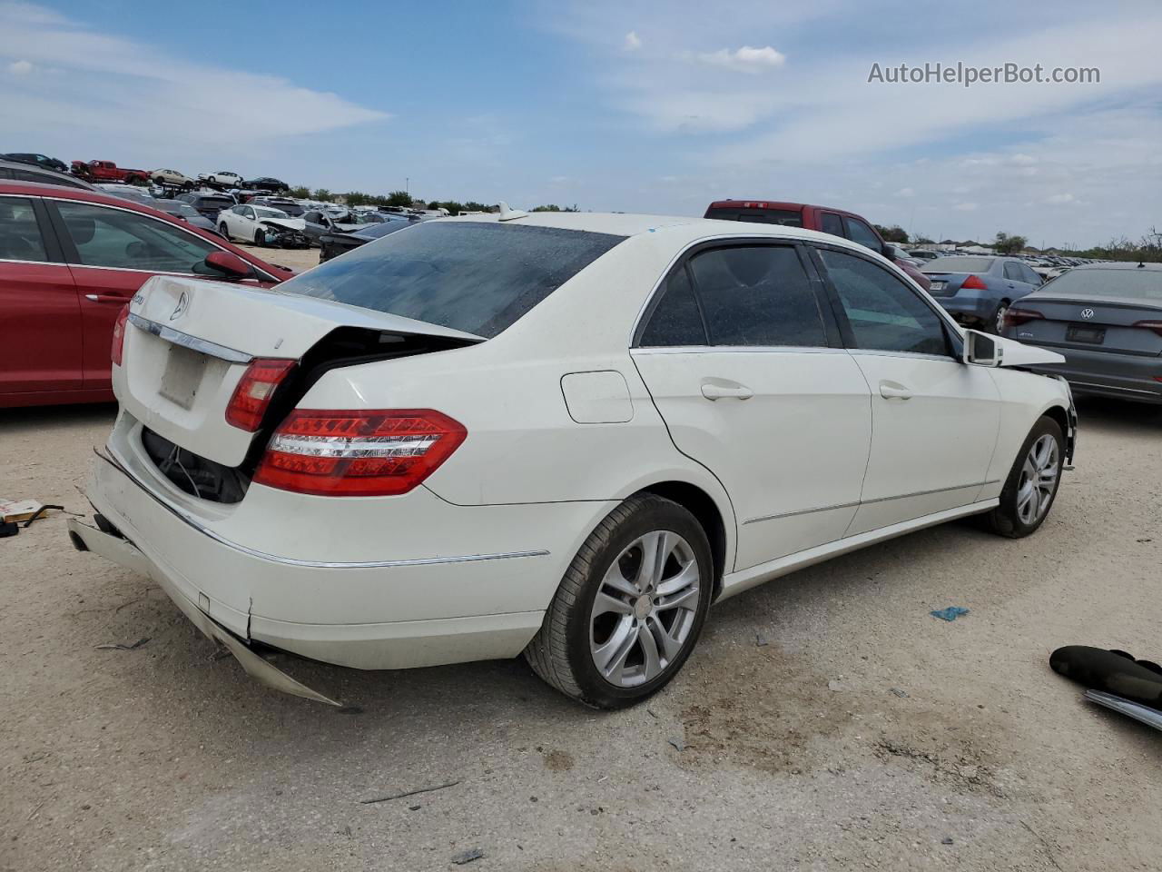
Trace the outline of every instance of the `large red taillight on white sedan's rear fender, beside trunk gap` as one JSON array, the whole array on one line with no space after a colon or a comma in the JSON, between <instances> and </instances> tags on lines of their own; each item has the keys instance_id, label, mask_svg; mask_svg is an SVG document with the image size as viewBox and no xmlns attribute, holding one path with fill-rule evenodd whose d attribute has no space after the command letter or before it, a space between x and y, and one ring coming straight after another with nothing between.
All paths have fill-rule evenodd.
<instances>
[{"instance_id":1,"label":"large red taillight on white sedan's rear fender, beside trunk gap","mask_svg":"<svg viewBox=\"0 0 1162 872\"><path fill-rule=\"evenodd\" d=\"M467 435L432 409L295 409L275 430L253 480L323 496L407 493Z\"/></svg>"}]
</instances>

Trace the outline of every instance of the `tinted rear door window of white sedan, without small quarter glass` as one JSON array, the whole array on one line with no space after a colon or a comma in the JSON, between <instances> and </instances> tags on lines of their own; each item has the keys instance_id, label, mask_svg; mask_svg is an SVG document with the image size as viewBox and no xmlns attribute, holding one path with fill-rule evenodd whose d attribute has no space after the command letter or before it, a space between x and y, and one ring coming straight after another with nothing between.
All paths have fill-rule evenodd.
<instances>
[{"instance_id":1,"label":"tinted rear door window of white sedan, without small quarter glass","mask_svg":"<svg viewBox=\"0 0 1162 872\"><path fill-rule=\"evenodd\" d=\"M690 271L711 344L827 344L815 291L795 249L713 249L696 255Z\"/></svg>"}]
</instances>

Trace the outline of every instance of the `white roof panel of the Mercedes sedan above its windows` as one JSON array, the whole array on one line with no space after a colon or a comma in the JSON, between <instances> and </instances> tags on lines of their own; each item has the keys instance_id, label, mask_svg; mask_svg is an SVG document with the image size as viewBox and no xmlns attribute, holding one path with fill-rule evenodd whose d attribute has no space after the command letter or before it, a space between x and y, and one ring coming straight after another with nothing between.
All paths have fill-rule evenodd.
<instances>
[{"instance_id":1,"label":"white roof panel of the Mercedes sedan above its windows","mask_svg":"<svg viewBox=\"0 0 1162 872\"><path fill-rule=\"evenodd\" d=\"M435 219L437 221L500 222L498 213L488 215L459 215ZM830 245L851 248L856 251L869 249L859 243L818 230L783 224L760 224L748 221L723 221L719 219L688 217L681 215L636 215L629 213L602 212L530 212L504 223L523 227L557 227L565 230L612 234L615 236L657 235L686 245L703 238L720 237L770 237L781 240L804 240L824 242Z\"/></svg>"}]
</instances>

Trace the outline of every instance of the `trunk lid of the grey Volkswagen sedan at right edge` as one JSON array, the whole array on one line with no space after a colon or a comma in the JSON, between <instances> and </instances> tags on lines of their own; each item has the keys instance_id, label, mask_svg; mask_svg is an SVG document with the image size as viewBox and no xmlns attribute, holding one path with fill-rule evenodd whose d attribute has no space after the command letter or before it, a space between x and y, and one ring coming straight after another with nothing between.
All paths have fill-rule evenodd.
<instances>
[{"instance_id":1,"label":"trunk lid of the grey Volkswagen sedan at right edge","mask_svg":"<svg viewBox=\"0 0 1162 872\"><path fill-rule=\"evenodd\" d=\"M1021 342L1146 357L1162 355L1162 336L1148 328L1134 327L1141 321L1162 321L1162 302L1032 294L1019 300L1016 308L1042 315L1012 328Z\"/></svg>"}]
</instances>

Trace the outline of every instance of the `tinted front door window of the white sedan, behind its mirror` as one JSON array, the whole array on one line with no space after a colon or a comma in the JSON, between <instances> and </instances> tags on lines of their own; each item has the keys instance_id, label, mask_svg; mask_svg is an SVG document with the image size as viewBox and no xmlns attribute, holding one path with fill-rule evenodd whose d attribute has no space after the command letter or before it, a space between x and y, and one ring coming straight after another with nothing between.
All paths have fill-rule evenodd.
<instances>
[{"instance_id":1,"label":"tinted front door window of the white sedan, behind its mirror","mask_svg":"<svg viewBox=\"0 0 1162 872\"><path fill-rule=\"evenodd\" d=\"M940 317L908 285L862 257L826 249L819 255L856 348L948 355Z\"/></svg>"}]
</instances>

